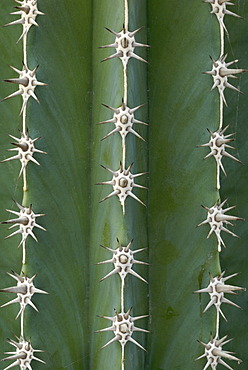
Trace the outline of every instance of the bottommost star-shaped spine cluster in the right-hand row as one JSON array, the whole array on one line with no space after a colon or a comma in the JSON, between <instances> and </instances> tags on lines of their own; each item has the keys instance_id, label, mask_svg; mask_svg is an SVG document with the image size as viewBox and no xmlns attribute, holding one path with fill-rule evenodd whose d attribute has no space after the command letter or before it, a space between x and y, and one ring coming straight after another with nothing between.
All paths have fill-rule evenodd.
<instances>
[{"instance_id":1,"label":"bottommost star-shaped spine cluster in the right-hand row","mask_svg":"<svg viewBox=\"0 0 248 370\"><path fill-rule=\"evenodd\" d=\"M211 336L210 341L208 343L204 343L202 341L199 341L199 343L205 348L205 353L198 357L196 360L200 360L201 358L206 357L207 363L203 370L208 369L210 366L212 370L216 370L217 366L223 365L227 369L233 370L225 361L222 360L222 357L224 357L227 360L234 360L238 361L240 364L242 361L233 356L230 351L224 351L222 347L229 343L232 339L227 339L227 335L224 336L221 339L213 338Z\"/></svg>"}]
</instances>

